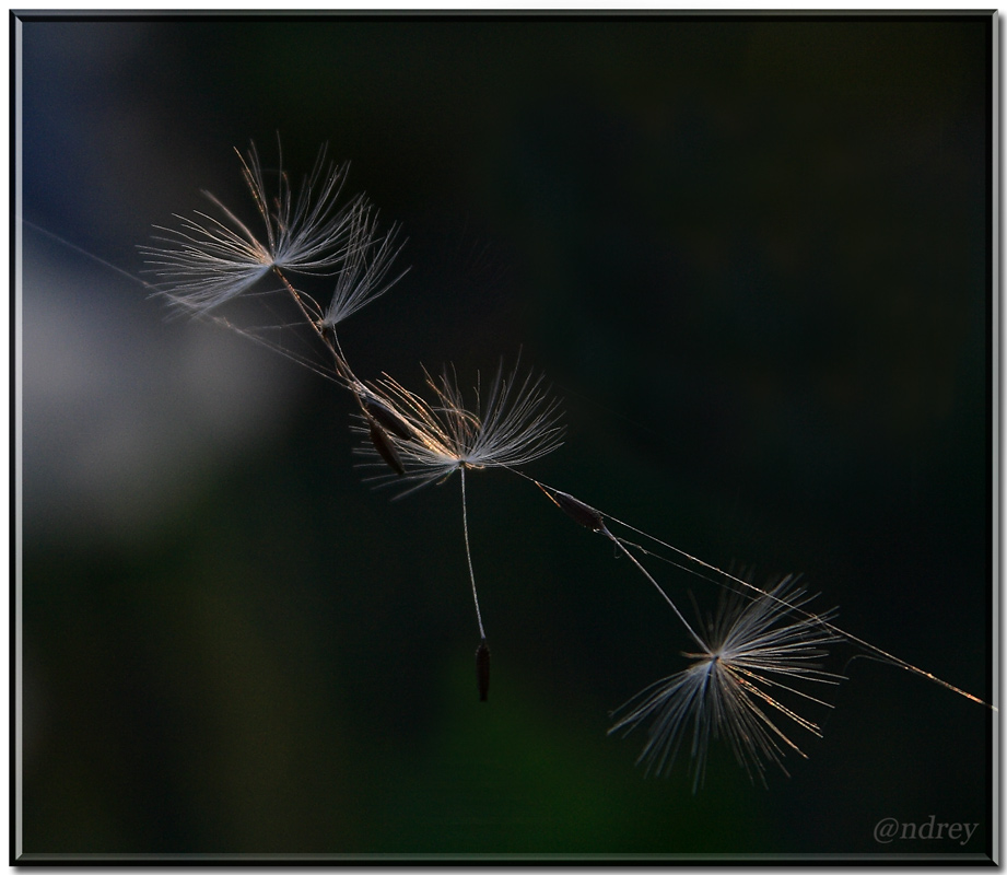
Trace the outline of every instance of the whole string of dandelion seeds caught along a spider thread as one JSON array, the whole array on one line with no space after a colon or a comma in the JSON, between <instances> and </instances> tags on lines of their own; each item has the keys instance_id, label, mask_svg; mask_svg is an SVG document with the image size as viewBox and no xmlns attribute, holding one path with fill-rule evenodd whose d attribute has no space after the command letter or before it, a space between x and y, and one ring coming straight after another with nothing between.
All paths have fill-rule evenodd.
<instances>
[{"instance_id":1,"label":"whole string of dandelion seeds caught along a spider thread","mask_svg":"<svg viewBox=\"0 0 1007 875\"><path fill-rule=\"evenodd\" d=\"M388 374L375 380L358 377L337 327L405 275L405 269L395 267L405 245L399 226L382 231L378 212L365 196L342 198L348 165L330 163L324 148L297 188L282 170L282 161L276 184L267 183L254 144L247 154L238 152L238 158L258 230L204 192L212 213L176 215L175 228L159 228L154 244L141 247L157 277L154 288L173 310L212 318L262 342L259 335L219 316L218 311L272 283L272 291L293 303L301 327L314 338L316 351L321 351L327 363L319 366L308 358L280 351L349 393L356 411L352 428L363 439L356 452L364 467L376 469L366 479L379 486L403 486L397 494L400 498L458 472L464 546L479 631L476 674L480 700L488 699L490 651L469 541L466 475L497 468L529 481L574 522L614 545L670 607L675 628L682 642L689 642L690 650L681 652L690 665L651 685L614 715L610 733L648 724L640 757L647 772L666 772L686 745L695 790L703 782L710 746L717 739L726 743L753 781L765 781L770 763L786 772L785 755L804 756L792 737L795 731L821 734L800 709L828 704L820 690L841 678L825 672L821 661L827 648L839 643L981 702L836 628L833 611L811 612L810 598L793 579L771 590L760 588L527 475L526 466L562 444L563 429L559 401L541 375L531 371L523 375L520 357L511 370L501 361L485 388L477 380L468 400L453 368L445 368L437 377L424 370L425 397ZM617 534L620 527L625 534ZM631 538L643 539L646 546ZM731 598L722 599L715 617L698 631L645 568L644 560L649 559L725 587Z\"/></svg>"}]
</instances>

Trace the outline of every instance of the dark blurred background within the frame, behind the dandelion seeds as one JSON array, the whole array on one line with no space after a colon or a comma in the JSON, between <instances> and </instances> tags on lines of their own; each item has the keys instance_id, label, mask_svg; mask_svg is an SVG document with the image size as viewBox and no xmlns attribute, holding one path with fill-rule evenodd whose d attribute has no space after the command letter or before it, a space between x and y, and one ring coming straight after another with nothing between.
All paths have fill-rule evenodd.
<instances>
[{"instance_id":1,"label":"dark blurred background within the frame, behind the dandelion seeds","mask_svg":"<svg viewBox=\"0 0 1007 875\"><path fill-rule=\"evenodd\" d=\"M173 318L137 250L203 190L255 221L234 148L276 167L279 138L296 184L327 143L409 237L340 329L361 376L519 353L566 411L528 474L760 585L803 572L985 698L988 15L13 26L26 854L988 853L991 712L850 646L789 777L714 744L693 794L687 737L645 778L609 712L694 643L505 471L468 479L480 702L457 476L374 489L352 398ZM977 827L875 840L932 815Z\"/></svg>"}]
</instances>

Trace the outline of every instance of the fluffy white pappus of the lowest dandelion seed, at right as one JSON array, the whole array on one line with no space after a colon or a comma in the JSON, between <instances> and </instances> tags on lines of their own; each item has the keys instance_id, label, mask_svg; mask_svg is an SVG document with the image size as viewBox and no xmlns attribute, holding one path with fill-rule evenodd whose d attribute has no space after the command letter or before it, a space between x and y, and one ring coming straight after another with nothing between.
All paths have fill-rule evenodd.
<instances>
[{"instance_id":1,"label":"fluffy white pappus of the lowest dandelion seed, at right","mask_svg":"<svg viewBox=\"0 0 1007 875\"><path fill-rule=\"evenodd\" d=\"M702 652L686 654L692 664L651 685L619 710L623 716L609 734L651 722L637 759L647 774L670 770L688 738L694 792L703 783L711 739L723 738L749 778L764 784L768 763L787 774L785 755L805 756L787 734L794 725L821 736L816 723L783 699L828 707L808 688L842 679L819 665L825 645L839 640L825 625L834 611L792 614L809 602L794 582L786 578L754 599L736 593L734 602L722 603L700 642Z\"/></svg>"}]
</instances>

